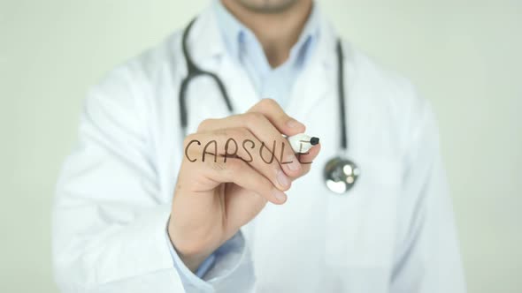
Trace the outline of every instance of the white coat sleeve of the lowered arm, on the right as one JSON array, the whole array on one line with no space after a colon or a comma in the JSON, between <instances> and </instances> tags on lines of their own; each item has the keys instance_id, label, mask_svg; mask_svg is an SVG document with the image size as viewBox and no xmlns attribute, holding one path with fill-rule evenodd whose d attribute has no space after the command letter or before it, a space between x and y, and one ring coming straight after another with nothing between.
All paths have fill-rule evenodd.
<instances>
[{"instance_id":1,"label":"white coat sleeve of the lowered arm, on the right","mask_svg":"<svg viewBox=\"0 0 522 293\"><path fill-rule=\"evenodd\" d=\"M434 115L420 99L411 112L391 292L462 293L464 274Z\"/></svg>"}]
</instances>

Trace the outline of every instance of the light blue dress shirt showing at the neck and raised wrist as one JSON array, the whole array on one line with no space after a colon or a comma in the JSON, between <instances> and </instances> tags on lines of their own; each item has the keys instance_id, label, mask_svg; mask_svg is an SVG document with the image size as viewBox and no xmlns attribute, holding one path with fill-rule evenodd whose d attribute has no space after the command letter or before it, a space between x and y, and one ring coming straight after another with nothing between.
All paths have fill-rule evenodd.
<instances>
[{"instance_id":1,"label":"light blue dress shirt showing at the neck and raised wrist","mask_svg":"<svg viewBox=\"0 0 522 293\"><path fill-rule=\"evenodd\" d=\"M303 27L303 32L298 41L290 49L288 59L276 68L273 68L268 63L263 46L257 41L256 35L248 27L235 19L234 15L227 11L219 0L213 1L211 5L212 11L215 12L223 41L226 44L228 55L247 72L259 97L278 101L281 107L284 108L292 93L296 78L310 58L311 52L319 38L319 11L315 7L316 5L314 4L314 7L312 7L311 14ZM210 291L211 285L208 282L226 275L226 264L230 264L228 267L234 267L234 259L238 259L237 256L240 254L238 251L244 245L244 238L241 232L238 232L226 244L223 244L216 252L212 253L209 258L205 259L197 269L196 274L193 274L181 261L168 235L166 240L170 245L174 267L180 274L183 286L185 289L196 289L197 291ZM216 266L219 262L221 264ZM223 265L222 263L226 264ZM213 267L219 267L221 271L212 271Z\"/></svg>"}]
</instances>

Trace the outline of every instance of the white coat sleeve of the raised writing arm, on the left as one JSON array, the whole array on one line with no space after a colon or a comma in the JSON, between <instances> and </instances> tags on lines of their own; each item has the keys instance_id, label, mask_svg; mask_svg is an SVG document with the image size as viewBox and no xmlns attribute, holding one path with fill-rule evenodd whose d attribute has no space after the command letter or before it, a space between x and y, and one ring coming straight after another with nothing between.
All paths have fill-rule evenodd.
<instances>
[{"instance_id":1,"label":"white coat sleeve of the raised writing arm, on the left","mask_svg":"<svg viewBox=\"0 0 522 293\"><path fill-rule=\"evenodd\" d=\"M121 67L88 94L53 210L53 267L63 292L201 291L184 282L165 241L171 200L160 195L140 82ZM233 252L237 263L211 269L218 283L198 281L205 291L249 285L244 245Z\"/></svg>"}]
</instances>

